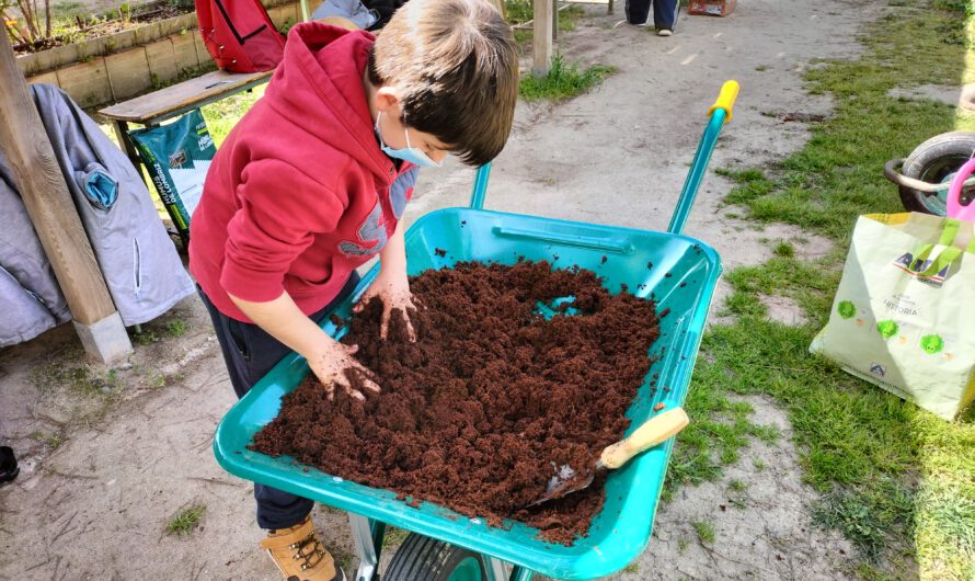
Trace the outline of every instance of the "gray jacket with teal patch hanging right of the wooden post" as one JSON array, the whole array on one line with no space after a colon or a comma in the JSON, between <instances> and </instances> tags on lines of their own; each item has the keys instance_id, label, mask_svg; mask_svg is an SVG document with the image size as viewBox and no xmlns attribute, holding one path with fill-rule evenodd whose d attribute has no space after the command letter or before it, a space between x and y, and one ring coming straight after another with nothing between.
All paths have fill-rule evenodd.
<instances>
[{"instance_id":1,"label":"gray jacket with teal patch hanging right of the wooden post","mask_svg":"<svg viewBox=\"0 0 975 581\"><path fill-rule=\"evenodd\" d=\"M194 287L146 183L71 98L49 84L31 90L123 322L159 317Z\"/></svg>"}]
</instances>

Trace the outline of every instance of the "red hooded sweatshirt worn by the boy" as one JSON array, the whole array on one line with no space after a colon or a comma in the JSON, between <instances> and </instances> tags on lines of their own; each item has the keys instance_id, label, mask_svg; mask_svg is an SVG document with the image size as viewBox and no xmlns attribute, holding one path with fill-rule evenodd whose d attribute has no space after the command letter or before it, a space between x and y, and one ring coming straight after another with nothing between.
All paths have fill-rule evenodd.
<instances>
[{"instance_id":1,"label":"red hooded sweatshirt worn by the boy","mask_svg":"<svg viewBox=\"0 0 975 581\"><path fill-rule=\"evenodd\" d=\"M363 88L374 36L291 29L267 91L217 151L190 225L190 271L225 315L284 290L328 305L395 230L417 170L380 149Z\"/></svg>"}]
</instances>

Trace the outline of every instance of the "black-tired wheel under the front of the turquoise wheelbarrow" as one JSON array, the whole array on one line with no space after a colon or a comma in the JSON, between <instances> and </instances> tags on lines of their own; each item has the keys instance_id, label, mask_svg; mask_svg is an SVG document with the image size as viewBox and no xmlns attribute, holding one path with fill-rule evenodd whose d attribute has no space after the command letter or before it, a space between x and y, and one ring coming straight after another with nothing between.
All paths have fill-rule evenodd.
<instances>
[{"instance_id":1,"label":"black-tired wheel under the front of the turquoise wheelbarrow","mask_svg":"<svg viewBox=\"0 0 975 581\"><path fill-rule=\"evenodd\" d=\"M484 557L441 540L410 533L397 549L383 581L484 581Z\"/></svg>"}]
</instances>

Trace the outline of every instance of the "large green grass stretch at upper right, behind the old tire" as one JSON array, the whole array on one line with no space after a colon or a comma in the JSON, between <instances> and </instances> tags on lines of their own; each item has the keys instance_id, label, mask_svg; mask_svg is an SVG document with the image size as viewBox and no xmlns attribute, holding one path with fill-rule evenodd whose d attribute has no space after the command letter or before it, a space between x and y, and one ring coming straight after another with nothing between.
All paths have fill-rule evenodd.
<instances>
[{"instance_id":1,"label":"large green grass stretch at upper right, behind the old tire","mask_svg":"<svg viewBox=\"0 0 975 581\"><path fill-rule=\"evenodd\" d=\"M971 127L975 118L956 118L953 107L931 101L887 96L897 86L975 77L975 70L965 69L963 48L945 43L943 32L964 34L964 20L928 10L928 2L908 4L864 30L868 56L825 61L807 72L813 93L836 99L834 115L811 127L812 140L802 151L766 172L771 179L755 169L725 170L739 184L729 203L748 207L756 219L796 224L840 241L858 215L901 209L896 189L883 178L883 163L932 135Z\"/></svg>"}]
</instances>

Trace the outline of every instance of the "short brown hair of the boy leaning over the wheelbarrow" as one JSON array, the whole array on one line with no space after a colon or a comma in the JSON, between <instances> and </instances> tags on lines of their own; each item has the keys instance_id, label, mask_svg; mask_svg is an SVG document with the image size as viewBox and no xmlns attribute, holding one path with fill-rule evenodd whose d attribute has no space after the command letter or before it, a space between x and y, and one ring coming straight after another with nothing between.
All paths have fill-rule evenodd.
<instances>
[{"instance_id":1,"label":"short brown hair of the boy leaning over the wheelbarrow","mask_svg":"<svg viewBox=\"0 0 975 581\"><path fill-rule=\"evenodd\" d=\"M518 100L518 53L487 0L410 0L369 53L369 81L400 90L404 123L471 166L501 152Z\"/></svg>"}]
</instances>

